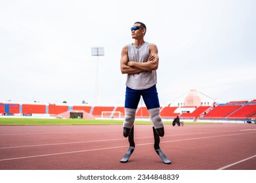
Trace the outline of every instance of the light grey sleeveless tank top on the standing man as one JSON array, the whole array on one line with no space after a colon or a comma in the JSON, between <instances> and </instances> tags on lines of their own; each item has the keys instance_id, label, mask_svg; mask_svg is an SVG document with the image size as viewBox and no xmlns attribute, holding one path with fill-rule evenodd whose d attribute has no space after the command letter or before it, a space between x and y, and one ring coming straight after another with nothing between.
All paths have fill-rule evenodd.
<instances>
[{"instance_id":1,"label":"light grey sleeveless tank top on the standing man","mask_svg":"<svg viewBox=\"0 0 256 183\"><path fill-rule=\"evenodd\" d=\"M128 46L128 60L146 62L150 56L150 43L144 42L141 46ZM142 71L141 73L127 75L126 86L134 90L144 90L157 83L156 71Z\"/></svg>"}]
</instances>

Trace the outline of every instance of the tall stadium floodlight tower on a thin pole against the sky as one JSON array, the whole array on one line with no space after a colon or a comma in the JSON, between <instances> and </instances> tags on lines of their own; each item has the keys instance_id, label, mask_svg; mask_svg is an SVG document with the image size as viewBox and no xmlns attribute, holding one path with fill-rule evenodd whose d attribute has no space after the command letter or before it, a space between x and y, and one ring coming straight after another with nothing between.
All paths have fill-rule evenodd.
<instances>
[{"instance_id":1,"label":"tall stadium floodlight tower on a thin pole against the sky","mask_svg":"<svg viewBox=\"0 0 256 183\"><path fill-rule=\"evenodd\" d=\"M104 47L91 47L91 55L97 57L96 78L95 78L95 105L96 105L99 103L99 92L98 92L99 56L104 56Z\"/></svg>"}]
</instances>

